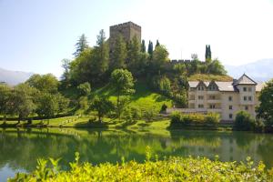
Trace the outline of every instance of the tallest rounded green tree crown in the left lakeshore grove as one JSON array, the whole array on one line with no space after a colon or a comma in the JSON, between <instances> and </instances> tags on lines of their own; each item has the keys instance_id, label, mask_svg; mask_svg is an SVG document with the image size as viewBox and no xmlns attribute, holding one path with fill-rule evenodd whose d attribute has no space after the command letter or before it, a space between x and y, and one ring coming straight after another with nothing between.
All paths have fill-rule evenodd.
<instances>
[{"instance_id":1,"label":"tallest rounded green tree crown in the left lakeshore grove","mask_svg":"<svg viewBox=\"0 0 273 182\"><path fill-rule=\"evenodd\" d=\"M56 76L53 76L52 74L46 74L44 76L35 74L26 81L26 84L35 87L41 92L56 94L59 82L56 79Z\"/></svg>"}]
</instances>

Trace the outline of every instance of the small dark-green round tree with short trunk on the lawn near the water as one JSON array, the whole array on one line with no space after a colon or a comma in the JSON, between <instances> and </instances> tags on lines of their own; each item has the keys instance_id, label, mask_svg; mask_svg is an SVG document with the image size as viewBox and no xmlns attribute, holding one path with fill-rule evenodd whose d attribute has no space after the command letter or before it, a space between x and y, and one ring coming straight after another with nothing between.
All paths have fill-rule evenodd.
<instances>
[{"instance_id":1,"label":"small dark-green round tree with short trunk on the lawn near the water","mask_svg":"<svg viewBox=\"0 0 273 182\"><path fill-rule=\"evenodd\" d=\"M113 108L113 103L109 101L106 97L98 97L94 98L92 108L96 110L98 121L102 122L102 117L107 115Z\"/></svg>"}]
</instances>

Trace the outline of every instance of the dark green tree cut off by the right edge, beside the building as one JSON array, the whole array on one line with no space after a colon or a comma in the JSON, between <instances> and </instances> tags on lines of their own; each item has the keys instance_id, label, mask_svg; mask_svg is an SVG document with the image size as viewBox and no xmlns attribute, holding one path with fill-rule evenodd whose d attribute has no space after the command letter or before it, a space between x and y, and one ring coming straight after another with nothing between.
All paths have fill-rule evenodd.
<instances>
[{"instance_id":1,"label":"dark green tree cut off by the right edge, beside the building","mask_svg":"<svg viewBox=\"0 0 273 182\"><path fill-rule=\"evenodd\" d=\"M273 79L268 81L267 85L261 90L257 107L258 118L264 119L267 126L273 125Z\"/></svg>"}]
</instances>

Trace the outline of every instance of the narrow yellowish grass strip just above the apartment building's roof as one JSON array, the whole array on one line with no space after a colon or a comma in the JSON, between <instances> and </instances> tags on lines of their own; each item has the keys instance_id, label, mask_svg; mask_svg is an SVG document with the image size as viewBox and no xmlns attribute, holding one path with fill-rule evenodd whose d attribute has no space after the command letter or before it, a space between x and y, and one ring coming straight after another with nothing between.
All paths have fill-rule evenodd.
<instances>
[{"instance_id":1,"label":"narrow yellowish grass strip just above the apartment building's roof","mask_svg":"<svg viewBox=\"0 0 273 182\"><path fill-rule=\"evenodd\" d=\"M223 82L231 82L233 78L231 76L216 76L216 75L205 75L205 74L195 74L193 76L188 77L188 81L223 81Z\"/></svg>"}]
</instances>

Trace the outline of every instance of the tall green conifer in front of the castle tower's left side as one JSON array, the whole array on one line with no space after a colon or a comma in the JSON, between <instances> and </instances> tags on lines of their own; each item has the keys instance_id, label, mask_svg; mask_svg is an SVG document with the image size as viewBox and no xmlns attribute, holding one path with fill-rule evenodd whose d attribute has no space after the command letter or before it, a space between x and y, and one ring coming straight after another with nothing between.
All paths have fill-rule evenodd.
<instances>
[{"instance_id":1,"label":"tall green conifer in front of the castle tower's left side","mask_svg":"<svg viewBox=\"0 0 273 182\"><path fill-rule=\"evenodd\" d=\"M126 68L126 42L122 35L118 35L116 38L116 44L113 50L112 66L111 69Z\"/></svg>"}]
</instances>

